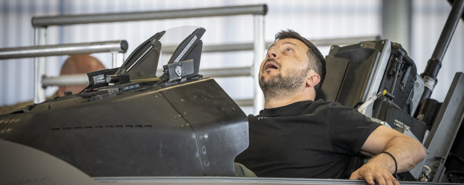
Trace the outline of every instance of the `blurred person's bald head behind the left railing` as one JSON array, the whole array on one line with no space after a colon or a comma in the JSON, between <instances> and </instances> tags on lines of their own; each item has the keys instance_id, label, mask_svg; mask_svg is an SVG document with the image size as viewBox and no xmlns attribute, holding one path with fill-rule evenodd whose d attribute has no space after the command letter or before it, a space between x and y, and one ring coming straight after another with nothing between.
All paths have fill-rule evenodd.
<instances>
[{"instance_id":1,"label":"blurred person's bald head behind the left railing","mask_svg":"<svg viewBox=\"0 0 464 185\"><path fill-rule=\"evenodd\" d=\"M106 69L95 57L90 55L72 55L61 67L60 75L83 74L96 70ZM72 94L80 92L87 85L59 86L58 96L64 96L64 92L71 91Z\"/></svg>"}]
</instances>

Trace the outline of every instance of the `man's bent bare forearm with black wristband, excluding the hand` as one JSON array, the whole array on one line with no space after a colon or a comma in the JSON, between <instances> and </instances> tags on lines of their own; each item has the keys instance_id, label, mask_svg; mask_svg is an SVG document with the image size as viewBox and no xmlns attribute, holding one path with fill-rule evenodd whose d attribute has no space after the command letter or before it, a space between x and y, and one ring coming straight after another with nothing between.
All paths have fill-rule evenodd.
<instances>
[{"instance_id":1,"label":"man's bent bare forearm with black wristband, excluding the hand","mask_svg":"<svg viewBox=\"0 0 464 185\"><path fill-rule=\"evenodd\" d=\"M409 136L395 136L388 141L384 150L391 153L398 163L398 173L407 172L425 158L425 151L419 141ZM380 153L367 163L377 163L389 172L395 172L395 162L387 153Z\"/></svg>"}]
</instances>

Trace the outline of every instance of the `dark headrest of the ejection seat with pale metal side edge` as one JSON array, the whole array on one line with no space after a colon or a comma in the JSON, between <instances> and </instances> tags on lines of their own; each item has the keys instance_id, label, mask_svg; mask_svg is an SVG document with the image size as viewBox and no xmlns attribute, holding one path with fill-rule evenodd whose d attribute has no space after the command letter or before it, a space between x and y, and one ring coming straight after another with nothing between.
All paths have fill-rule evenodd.
<instances>
[{"instance_id":1,"label":"dark headrest of the ejection seat with pale metal side edge","mask_svg":"<svg viewBox=\"0 0 464 185\"><path fill-rule=\"evenodd\" d=\"M375 96L389 52L388 40L343 47L332 45L329 55L325 57L327 74L316 99L356 107L373 97L373 94Z\"/></svg>"}]
</instances>

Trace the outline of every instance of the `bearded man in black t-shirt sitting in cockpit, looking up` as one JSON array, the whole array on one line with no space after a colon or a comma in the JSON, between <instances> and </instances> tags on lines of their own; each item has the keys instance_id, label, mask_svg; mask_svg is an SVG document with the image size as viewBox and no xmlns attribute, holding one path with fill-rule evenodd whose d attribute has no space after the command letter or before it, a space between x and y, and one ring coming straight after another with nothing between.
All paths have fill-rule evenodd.
<instances>
[{"instance_id":1,"label":"bearded man in black t-shirt sitting in cockpit, looking up","mask_svg":"<svg viewBox=\"0 0 464 185\"><path fill-rule=\"evenodd\" d=\"M281 31L259 70L264 110L249 115L249 147L235 162L258 177L343 178L350 157L373 156L351 174L380 185L399 185L393 173L425 158L422 145L354 108L315 100L325 60L309 40Z\"/></svg>"}]
</instances>

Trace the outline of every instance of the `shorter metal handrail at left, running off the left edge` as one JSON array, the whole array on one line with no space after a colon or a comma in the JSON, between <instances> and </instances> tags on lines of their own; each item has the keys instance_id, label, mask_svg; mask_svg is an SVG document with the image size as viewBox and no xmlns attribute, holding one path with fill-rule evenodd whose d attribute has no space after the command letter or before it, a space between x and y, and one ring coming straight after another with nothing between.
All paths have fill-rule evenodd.
<instances>
[{"instance_id":1,"label":"shorter metal handrail at left, running off the left edge","mask_svg":"<svg viewBox=\"0 0 464 185\"><path fill-rule=\"evenodd\" d=\"M127 48L128 44L125 40L0 48L0 59L45 57L58 55L80 55L102 52L125 53L127 51Z\"/></svg>"}]
</instances>

